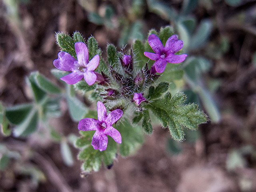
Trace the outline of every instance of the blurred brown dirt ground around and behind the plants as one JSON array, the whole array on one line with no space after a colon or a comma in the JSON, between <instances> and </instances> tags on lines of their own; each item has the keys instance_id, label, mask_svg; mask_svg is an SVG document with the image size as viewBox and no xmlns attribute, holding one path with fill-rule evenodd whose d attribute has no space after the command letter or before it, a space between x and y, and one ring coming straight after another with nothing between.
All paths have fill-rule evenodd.
<instances>
[{"instance_id":1,"label":"blurred brown dirt ground around and behind the plants","mask_svg":"<svg viewBox=\"0 0 256 192\"><path fill-rule=\"evenodd\" d=\"M222 1L216 2L211 12L199 7L194 14L202 19L219 17L220 12L232 15L237 11ZM98 1L98 4L104 3L119 5L114 0ZM246 6L256 8L256 2L250 1ZM27 4L21 3L18 11L19 24L10 22L0 0L0 100L4 106L31 101L24 77L32 71L38 70L58 83L50 73L59 52L55 32L72 34L79 31L84 38L93 35L103 52L107 42L117 44L120 36L118 29L89 22L86 10L75 0L30 0ZM169 24L150 12L146 12L143 22L148 27L144 29L145 33ZM256 191L256 67L251 61L256 50L256 30L253 30L254 33L224 25L212 33L212 40L220 34L230 40L230 50L223 58L212 60L212 69L206 74L222 82L213 95L220 106L222 119L219 123L200 125L200 138L194 143L180 143L182 152L179 154L166 150L170 134L168 130L156 127L154 134L145 136L146 142L136 154L118 157L111 169L102 167L99 172L84 176L79 160L75 160L72 167L62 162L56 142L0 136L1 143L22 152L24 163L33 164L45 175L35 187L30 176L13 171L9 166L8 170L0 172L0 192ZM64 134L78 135L77 123L72 122L67 111L54 121ZM253 148L253 152L242 154L245 166L228 170L228 154L244 146ZM36 149L32 158L27 152L29 147ZM72 153L76 156L78 150L72 148Z\"/></svg>"}]
</instances>

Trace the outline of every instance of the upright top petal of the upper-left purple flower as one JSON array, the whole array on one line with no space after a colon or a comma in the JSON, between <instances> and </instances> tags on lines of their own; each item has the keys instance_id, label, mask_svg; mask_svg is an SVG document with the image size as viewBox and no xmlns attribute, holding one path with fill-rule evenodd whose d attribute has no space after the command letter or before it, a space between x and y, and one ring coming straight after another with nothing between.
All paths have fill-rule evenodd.
<instances>
[{"instance_id":1,"label":"upright top petal of the upper-left purple flower","mask_svg":"<svg viewBox=\"0 0 256 192\"><path fill-rule=\"evenodd\" d=\"M86 67L88 63L88 49L86 47L86 44L83 42L76 42L75 43L75 50L76 50L76 57L78 62Z\"/></svg>"}]
</instances>

